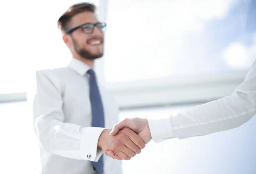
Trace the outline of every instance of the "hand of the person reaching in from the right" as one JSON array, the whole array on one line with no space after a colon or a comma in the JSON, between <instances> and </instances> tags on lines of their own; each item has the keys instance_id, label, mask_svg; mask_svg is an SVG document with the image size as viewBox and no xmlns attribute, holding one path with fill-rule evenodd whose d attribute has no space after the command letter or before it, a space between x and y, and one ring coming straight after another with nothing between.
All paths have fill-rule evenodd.
<instances>
[{"instance_id":1,"label":"hand of the person reaching in from the right","mask_svg":"<svg viewBox=\"0 0 256 174\"><path fill-rule=\"evenodd\" d=\"M122 129L125 127L130 128L135 133L137 133L141 137L141 139L143 139L145 144L147 144L152 139L148 126L148 120L141 118L124 119L122 122L114 125L110 135L115 136L120 130L122 131ZM109 149L105 152L105 155L110 156L114 159L123 159L118 154L114 153Z\"/></svg>"}]
</instances>

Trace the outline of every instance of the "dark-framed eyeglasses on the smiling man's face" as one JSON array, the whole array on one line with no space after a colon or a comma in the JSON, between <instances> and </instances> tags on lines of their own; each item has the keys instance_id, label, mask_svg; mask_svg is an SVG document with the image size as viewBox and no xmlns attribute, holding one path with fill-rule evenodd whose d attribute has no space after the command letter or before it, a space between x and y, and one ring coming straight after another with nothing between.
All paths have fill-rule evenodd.
<instances>
[{"instance_id":1,"label":"dark-framed eyeglasses on the smiling man's face","mask_svg":"<svg viewBox=\"0 0 256 174\"><path fill-rule=\"evenodd\" d=\"M105 32L107 24L106 23L84 23L82 25L76 26L73 29L70 29L66 32L66 34L71 34L76 29L82 28L83 32L86 34L93 33L94 27L97 27L101 32Z\"/></svg>"}]
</instances>

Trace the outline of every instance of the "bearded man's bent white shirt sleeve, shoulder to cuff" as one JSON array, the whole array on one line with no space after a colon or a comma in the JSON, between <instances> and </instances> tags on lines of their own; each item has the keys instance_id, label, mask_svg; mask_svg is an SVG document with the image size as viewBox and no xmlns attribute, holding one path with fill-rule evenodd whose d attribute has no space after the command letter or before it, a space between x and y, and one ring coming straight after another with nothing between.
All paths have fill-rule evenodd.
<instances>
[{"instance_id":1,"label":"bearded man's bent white shirt sleeve, shoulder to cuff","mask_svg":"<svg viewBox=\"0 0 256 174\"><path fill-rule=\"evenodd\" d=\"M44 71L37 72L36 80L33 117L41 147L62 157L98 161L103 154L101 149L97 149L98 139L105 128L83 128L64 122L60 87ZM87 154L91 154L90 159Z\"/></svg>"}]
</instances>

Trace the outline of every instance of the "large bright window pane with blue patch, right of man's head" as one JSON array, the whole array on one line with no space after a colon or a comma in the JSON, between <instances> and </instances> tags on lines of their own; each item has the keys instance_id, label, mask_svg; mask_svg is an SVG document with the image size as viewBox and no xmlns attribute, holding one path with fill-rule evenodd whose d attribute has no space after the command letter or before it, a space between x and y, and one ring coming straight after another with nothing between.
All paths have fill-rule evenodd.
<instances>
[{"instance_id":1,"label":"large bright window pane with blue patch, right of man's head","mask_svg":"<svg viewBox=\"0 0 256 174\"><path fill-rule=\"evenodd\" d=\"M251 0L109 0L108 83L247 70L256 57Z\"/></svg>"}]
</instances>

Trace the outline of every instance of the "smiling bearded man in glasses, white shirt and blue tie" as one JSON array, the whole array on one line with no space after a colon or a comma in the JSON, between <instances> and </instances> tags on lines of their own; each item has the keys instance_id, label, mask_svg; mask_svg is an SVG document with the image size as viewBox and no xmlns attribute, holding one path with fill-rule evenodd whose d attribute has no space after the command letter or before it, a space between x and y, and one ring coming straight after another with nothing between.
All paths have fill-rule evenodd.
<instances>
[{"instance_id":1,"label":"smiling bearded man in glasses, white shirt and blue tie","mask_svg":"<svg viewBox=\"0 0 256 174\"><path fill-rule=\"evenodd\" d=\"M59 18L73 58L67 67L36 74L33 120L43 174L122 174L121 163L103 152L131 159L145 147L129 128L109 135L118 108L93 70L94 60L103 55L106 27L94 12L93 4L79 3Z\"/></svg>"}]
</instances>

